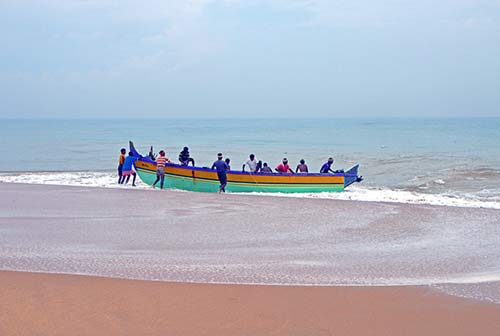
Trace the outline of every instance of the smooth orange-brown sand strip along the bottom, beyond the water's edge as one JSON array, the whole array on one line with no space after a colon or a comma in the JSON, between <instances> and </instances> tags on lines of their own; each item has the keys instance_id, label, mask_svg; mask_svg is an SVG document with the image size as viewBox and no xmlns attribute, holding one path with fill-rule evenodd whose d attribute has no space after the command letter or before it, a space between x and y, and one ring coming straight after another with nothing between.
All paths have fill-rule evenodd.
<instances>
[{"instance_id":1,"label":"smooth orange-brown sand strip along the bottom, beyond the water's edge","mask_svg":"<svg viewBox=\"0 0 500 336\"><path fill-rule=\"evenodd\" d=\"M0 272L0 335L498 335L500 305L422 287L167 283Z\"/></svg>"}]
</instances>

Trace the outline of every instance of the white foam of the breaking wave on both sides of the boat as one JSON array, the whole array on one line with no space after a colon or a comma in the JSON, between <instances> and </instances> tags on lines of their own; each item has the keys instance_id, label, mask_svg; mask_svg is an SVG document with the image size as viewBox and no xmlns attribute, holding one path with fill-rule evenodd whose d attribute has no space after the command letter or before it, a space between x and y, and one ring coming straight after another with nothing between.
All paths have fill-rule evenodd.
<instances>
[{"instance_id":1,"label":"white foam of the breaking wave on both sides of the boat","mask_svg":"<svg viewBox=\"0 0 500 336\"><path fill-rule=\"evenodd\" d=\"M118 185L117 177L111 172L22 172L1 173L0 182L30 183L49 185L86 186L101 188L130 188ZM129 182L130 183L130 182ZM138 183L137 188L146 189L143 183ZM484 192L483 192L484 193ZM394 190L388 188L367 188L362 186L350 186L345 192L323 192L323 193L249 193L250 195L299 197L352 200L366 202L391 202L408 204L427 204L454 207L490 208L500 209L500 197L482 197L479 194L430 194L407 190Z\"/></svg>"}]
</instances>

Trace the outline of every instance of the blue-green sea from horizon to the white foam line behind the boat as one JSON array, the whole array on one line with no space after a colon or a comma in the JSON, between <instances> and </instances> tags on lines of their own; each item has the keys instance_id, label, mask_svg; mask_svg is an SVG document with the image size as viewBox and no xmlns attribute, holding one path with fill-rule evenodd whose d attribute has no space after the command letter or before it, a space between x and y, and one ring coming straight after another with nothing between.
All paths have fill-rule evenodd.
<instances>
[{"instance_id":1,"label":"blue-green sea from horizon to the white foam line behind the boat","mask_svg":"<svg viewBox=\"0 0 500 336\"><path fill-rule=\"evenodd\" d=\"M201 166L220 151L233 169L250 153L311 171L333 156L365 177L342 194L291 197L500 208L500 118L3 120L0 140L0 182L117 187L119 149L133 140L173 159L189 146Z\"/></svg>"}]
</instances>

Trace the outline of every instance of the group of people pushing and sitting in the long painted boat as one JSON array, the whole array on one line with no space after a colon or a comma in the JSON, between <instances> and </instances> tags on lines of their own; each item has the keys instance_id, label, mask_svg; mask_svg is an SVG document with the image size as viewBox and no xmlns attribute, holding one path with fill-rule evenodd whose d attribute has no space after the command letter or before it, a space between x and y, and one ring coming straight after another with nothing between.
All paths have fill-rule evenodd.
<instances>
[{"instance_id":1,"label":"group of people pushing and sitting in the long painted boat","mask_svg":"<svg viewBox=\"0 0 500 336\"><path fill-rule=\"evenodd\" d=\"M120 150L120 157L118 160L118 183L127 184L128 181L130 180L130 176L133 176L132 186L135 187L136 172L132 169L132 166L137 160L137 157L135 157L132 152L129 152L129 155L125 156L126 152L127 151L125 148L122 148ZM149 151L149 157L152 161L156 161L156 180L154 181L152 187L155 188L156 184L160 182L160 188L163 189L163 185L165 182L165 164L167 162L171 163L171 161L168 157L166 157L164 150L160 150L158 152L158 156L154 155L153 147L151 147ZM189 154L188 147L184 147L182 151L179 153L179 163L184 166L187 166L189 164L192 164L193 167L195 166L195 161ZM328 173L341 172L341 171L334 171L332 169L333 163L334 159L331 157L328 158L328 161L321 166L320 173L328 174ZM212 164L211 169L217 171L217 176L219 178L220 182L219 192L226 191L227 171L231 170L230 164L231 160L229 158L224 159L222 153L217 154L217 160ZM304 159L300 160L299 164L295 168L295 171L293 171L292 168L290 167L287 158L283 158L281 163L278 166L276 166L274 170L279 174L309 173L309 167L307 166ZM249 172L252 174L273 173L273 170L271 169L271 167L269 167L267 162L263 163L260 160L257 161L254 154L249 155L248 160L242 166L242 171Z\"/></svg>"}]
</instances>

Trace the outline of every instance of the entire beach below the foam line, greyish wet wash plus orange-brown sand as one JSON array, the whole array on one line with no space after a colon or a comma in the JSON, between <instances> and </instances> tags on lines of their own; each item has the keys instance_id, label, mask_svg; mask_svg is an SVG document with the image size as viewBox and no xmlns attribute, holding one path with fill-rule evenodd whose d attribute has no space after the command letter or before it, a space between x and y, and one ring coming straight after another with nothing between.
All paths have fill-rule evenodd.
<instances>
[{"instance_id":1,"label":"entire beach below the foam line, greyish wet wash plus orange-brown sand","mask_svg":"<svg viewBox=\"0 0 500 336\"><path fill-rule=\"evenodd\" d=\"M498 210L8 183L0 199L1 335L500 330Z\"/></svg>"}]
</instances>

